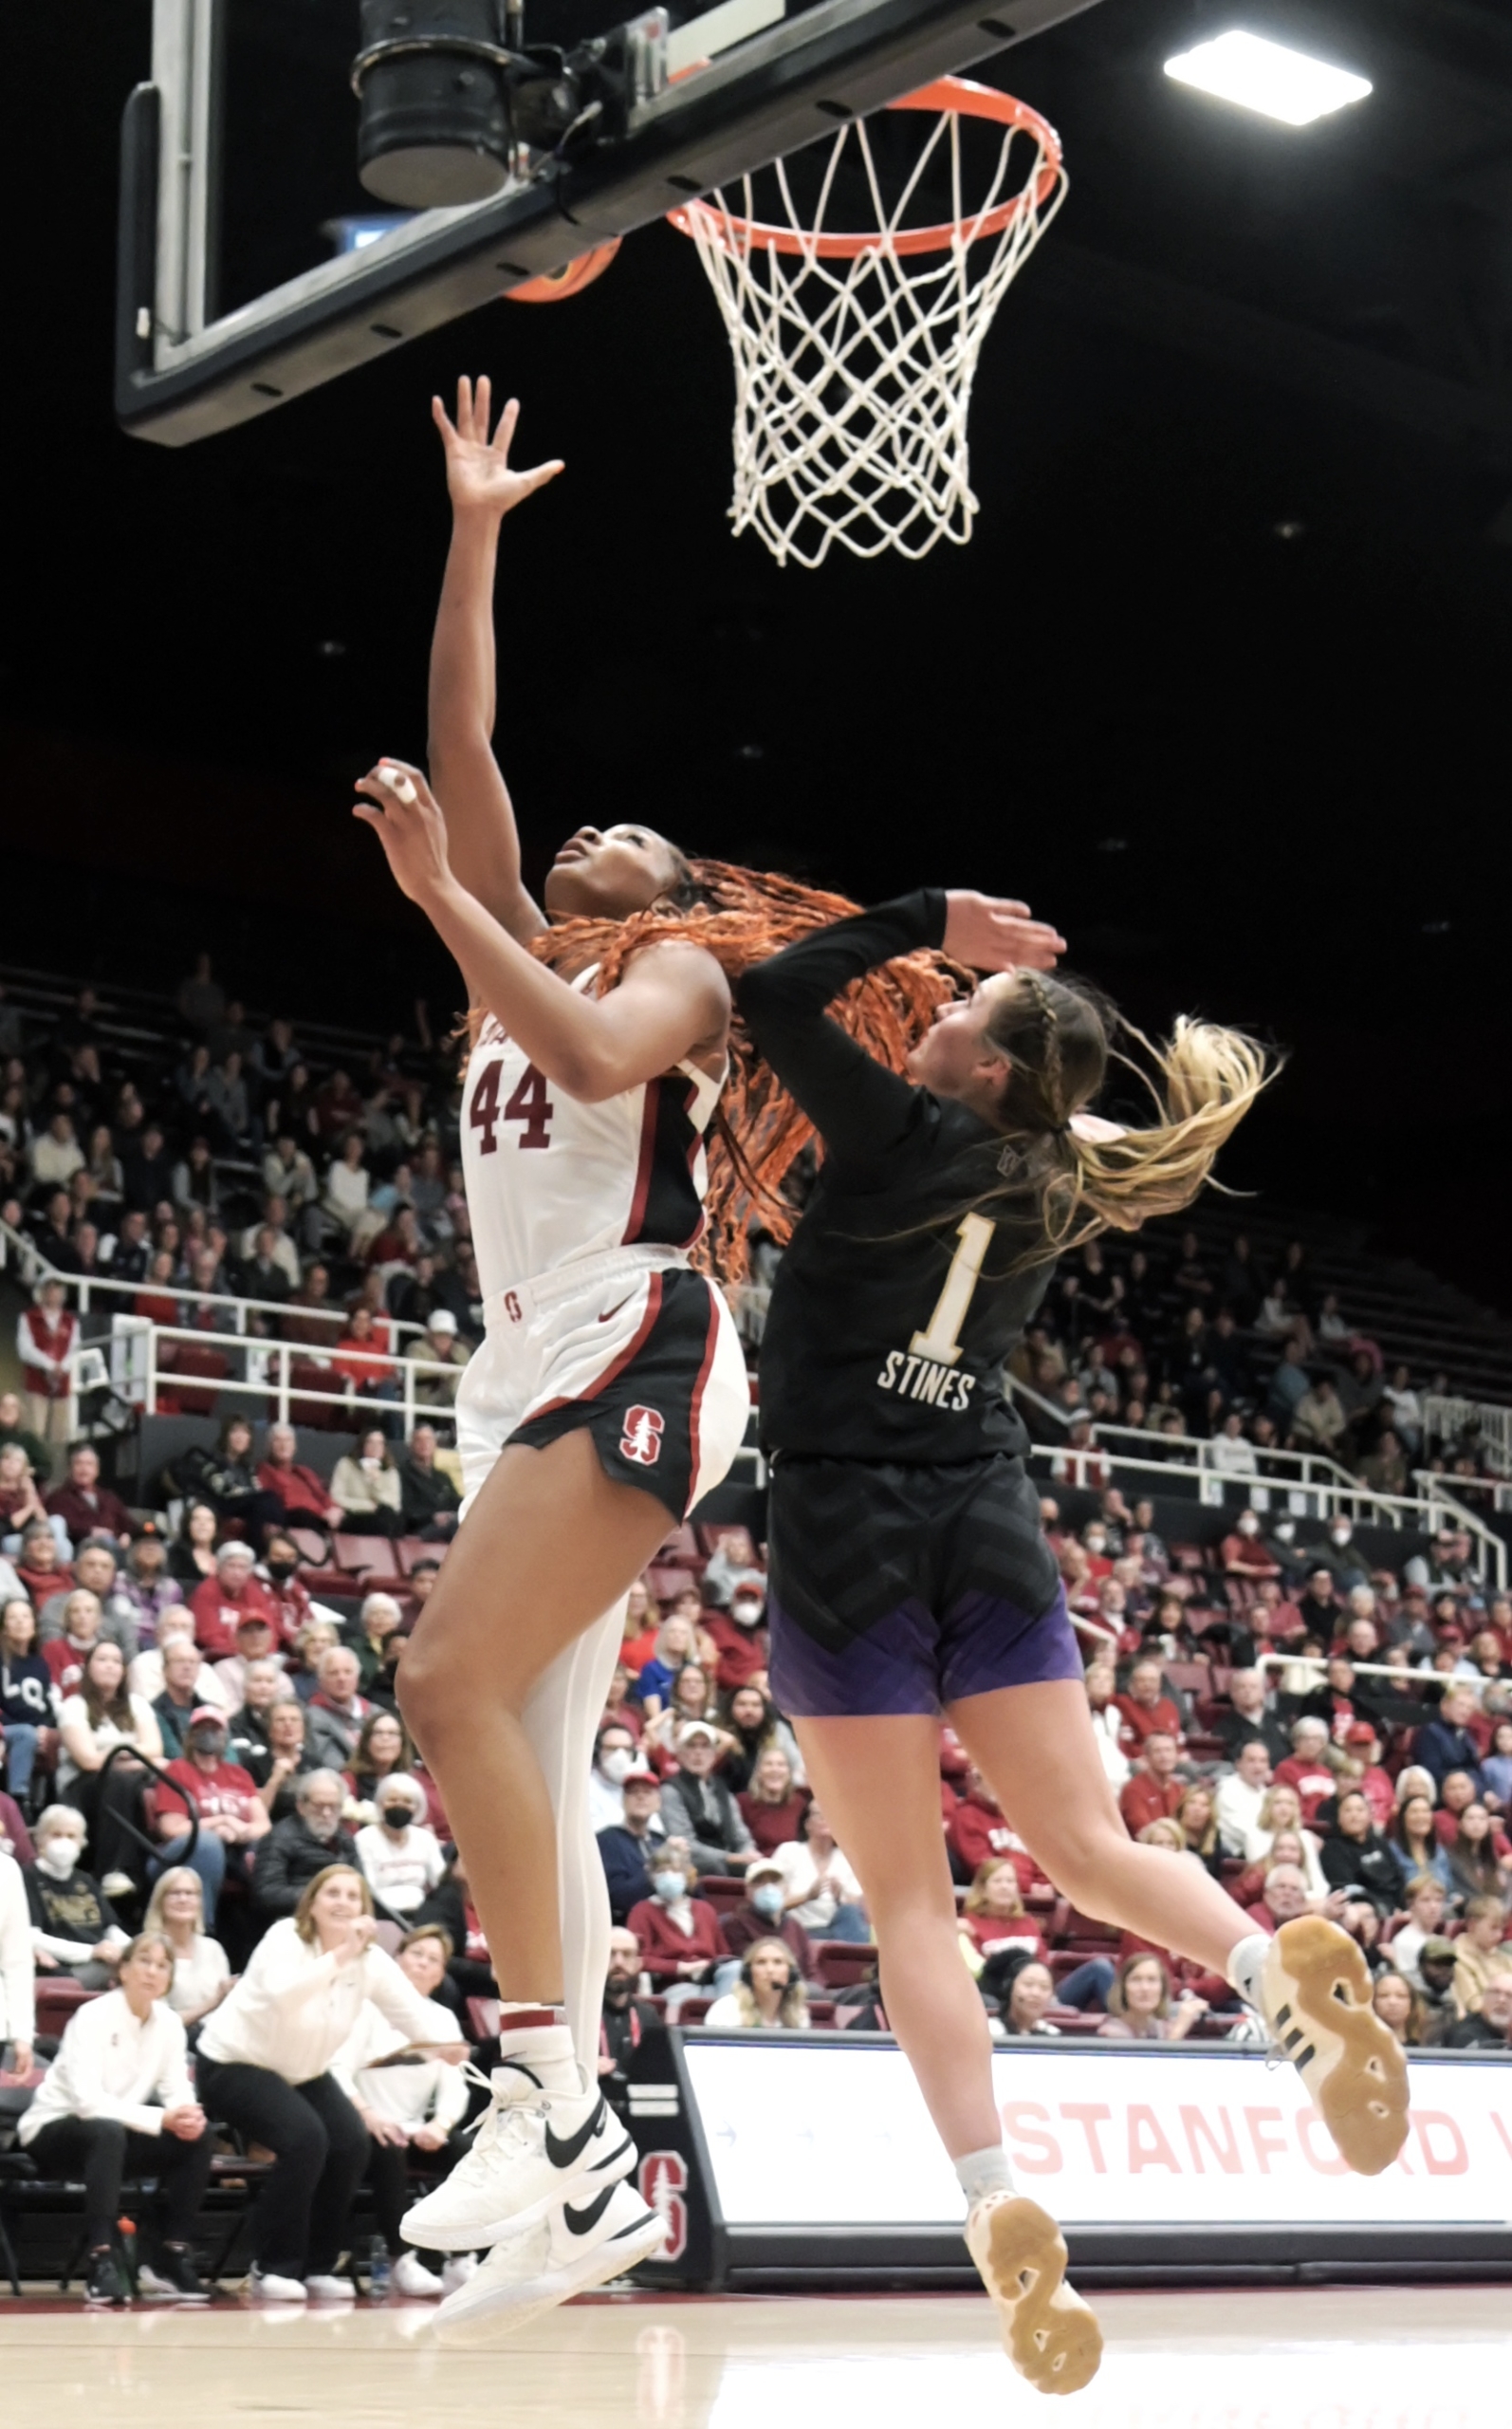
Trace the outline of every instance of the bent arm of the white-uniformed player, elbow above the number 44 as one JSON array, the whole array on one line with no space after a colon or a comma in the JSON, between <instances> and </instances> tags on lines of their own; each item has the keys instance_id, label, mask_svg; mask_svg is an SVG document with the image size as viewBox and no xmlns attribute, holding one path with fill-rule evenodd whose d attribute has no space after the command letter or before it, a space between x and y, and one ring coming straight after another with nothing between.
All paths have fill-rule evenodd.
<instances>
[{"instance_id":1,"label":"bent arm of the white-uniformed player, elbow above the number 44","mask_svg":"<svg viewBox=\"0 0 1512 2429\"><path fill-rule=\"evenodd\" d=\"M473 996L568 1095L597 1105L684 1054L723 1049L731 991L711 952L658 945L636 955L602 1003L582 996L459 884L447 821L417 768L379 760L357 789L366 802L352 816L376 831L398 887L456 955Z\"/></svg>"}]
</instances>

